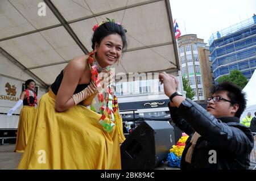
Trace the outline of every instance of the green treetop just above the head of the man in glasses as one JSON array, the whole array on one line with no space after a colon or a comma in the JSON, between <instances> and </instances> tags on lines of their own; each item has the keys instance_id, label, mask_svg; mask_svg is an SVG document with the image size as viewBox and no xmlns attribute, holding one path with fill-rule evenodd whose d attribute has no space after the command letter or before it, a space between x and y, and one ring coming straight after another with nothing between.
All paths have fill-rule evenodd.
<instances>
[{"instance_id":1,"label":"green treetop just above the head of the man in glasses","mask_svg":"<svg viewBox=\"0 0 256 181\"><path fill-rule=\"evenodd\" d=\"M218 83L225 81L233 82L235 85L240 86L242 89L248 82L245 75L243 75L239 70L232 70L230 71L229 75L224 75L217 79Z\"/></svg>"}]
</instances>

